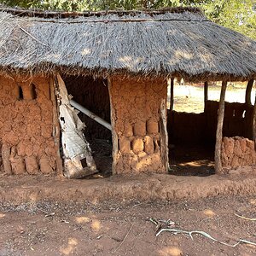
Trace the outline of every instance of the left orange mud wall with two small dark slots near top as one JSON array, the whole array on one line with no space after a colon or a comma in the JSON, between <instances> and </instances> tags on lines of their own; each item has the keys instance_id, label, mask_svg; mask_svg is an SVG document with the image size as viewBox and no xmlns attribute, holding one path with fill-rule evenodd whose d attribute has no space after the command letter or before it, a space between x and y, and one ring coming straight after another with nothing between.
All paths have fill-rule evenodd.
<instances>
[{"instance_id":1,"label":"left orange mud wall with two small dark slots near top","mask_svg":"<svg viewBox=\"0 0 256 256\"><path fill-rule=\"evenodd\" d=\"M0 150L9 174L55 172L49 79L0 76Z\"/></svg>"}]
</instances>

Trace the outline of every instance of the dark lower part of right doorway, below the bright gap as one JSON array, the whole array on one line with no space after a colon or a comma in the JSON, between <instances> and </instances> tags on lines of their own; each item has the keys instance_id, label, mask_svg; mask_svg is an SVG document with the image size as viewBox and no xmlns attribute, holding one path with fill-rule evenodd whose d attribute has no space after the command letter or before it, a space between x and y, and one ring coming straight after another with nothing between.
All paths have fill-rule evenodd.
<instances>
[{"instance_id":1,"label":"dark lower part of right doorway, below the bright gap","mask_svg":"<svg viewBox=\"0 0 256 256\"><path fill-rule=\"evenodd\" d=\"M174 175L214 174L215 140L207 138L205 113L168 113L169 163Z\"/></svg>"}]
</instances>

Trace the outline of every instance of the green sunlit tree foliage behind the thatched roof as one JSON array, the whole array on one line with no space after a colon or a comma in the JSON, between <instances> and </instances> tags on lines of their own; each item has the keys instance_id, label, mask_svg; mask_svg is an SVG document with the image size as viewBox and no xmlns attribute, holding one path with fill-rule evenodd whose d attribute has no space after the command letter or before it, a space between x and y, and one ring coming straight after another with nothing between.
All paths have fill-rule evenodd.
<instances>
[{"instance_id":1,"label":"green sunlit tree foliage behind the thatched roof","mask_svg":"<svg viewBox=\"0 0 256 256\"><path fill-rule=\"evenodd\" d=\"M22 8L84 11L100 9L160 9L194 6L207 17L256 39L256 0L0 0Z\"/></svg>"}]
</instances>

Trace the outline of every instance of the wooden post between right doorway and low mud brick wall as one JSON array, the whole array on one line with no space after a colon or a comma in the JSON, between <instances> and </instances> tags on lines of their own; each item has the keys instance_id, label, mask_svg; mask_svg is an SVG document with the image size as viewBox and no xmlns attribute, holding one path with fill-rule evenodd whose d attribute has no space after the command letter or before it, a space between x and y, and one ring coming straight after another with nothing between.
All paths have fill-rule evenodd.
<instances>
[{"instance_id":1,"label":"wooden post between right doorway and low mud brick wall","mask_svg":"<svg viewBox=\"0 0 256 256\"><path fill-rule=\"evenodd\" d=\"M220 92L220 100L218 105L218 122L217 122L217 130L216 130L216 143L215 143L215 172L222 172L222 163L221 163L221 145L222 145L222 130L223 130L223 122L224 122L224 100L225 100L225 92L227 89L227 81L222 82L221 92Z\"/></svg>"}]
</instances>

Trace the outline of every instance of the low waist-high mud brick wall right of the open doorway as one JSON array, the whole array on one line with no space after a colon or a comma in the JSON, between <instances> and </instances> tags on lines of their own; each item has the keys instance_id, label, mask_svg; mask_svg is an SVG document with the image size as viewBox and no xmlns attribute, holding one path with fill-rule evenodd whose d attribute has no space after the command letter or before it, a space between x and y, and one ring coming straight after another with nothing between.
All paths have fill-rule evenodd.
<instances>
[{"instance_id":1,"label":"low waist-high mud brick wall right of the open doorway","mask_svg":"<svg viewBox=\"0 0 256 256\"><path fill-rule=\"evenodd\" d=\"M236 169L256 164L254 142L244 137L224 137L222 143L222 166Z\"/></svg>"}]
</instances>

